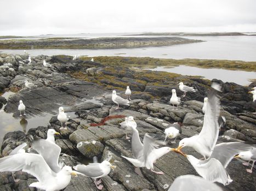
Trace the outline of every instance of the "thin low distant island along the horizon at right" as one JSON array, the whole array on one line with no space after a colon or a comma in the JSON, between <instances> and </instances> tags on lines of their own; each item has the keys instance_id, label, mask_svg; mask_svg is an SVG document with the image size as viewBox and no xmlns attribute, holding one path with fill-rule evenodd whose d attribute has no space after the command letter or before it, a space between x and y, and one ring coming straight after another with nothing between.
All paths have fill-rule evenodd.
<instances>
[{"instance_id":1,"label":"thin low distant island along the horizon at right","mask_svg":"<svg viewBox=\"0 0 256 191\"><path fill-rule=\"evenodd\" d=\"M255 34L244 34L240 32L213 32L213 33L184 33L184 32L170 32L170 33L142 33L142 34L133 34L133 35L151 35L151 36L157 36L157 35L175 35L175 36L251 36Z\"/></svg>"}]
</instances>

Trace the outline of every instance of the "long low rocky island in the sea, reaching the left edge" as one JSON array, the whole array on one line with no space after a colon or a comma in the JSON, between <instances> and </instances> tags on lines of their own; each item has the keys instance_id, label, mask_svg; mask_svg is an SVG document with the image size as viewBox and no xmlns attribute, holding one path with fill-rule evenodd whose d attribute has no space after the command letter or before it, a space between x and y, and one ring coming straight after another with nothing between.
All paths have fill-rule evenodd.
<instances>
[{"instance_id":1,"label":"long low rocky island in the sea, reaching the left edge","mask_svg":"<svg viewBox=\"0 0 256 191\"><path fill-rule=\"evenodd\" d=\"M0 49L120 49L132 47L170 46L199 42L202 42L202 40L180 37L11 39L1 40Z\"/></svg>"}]
</instances>

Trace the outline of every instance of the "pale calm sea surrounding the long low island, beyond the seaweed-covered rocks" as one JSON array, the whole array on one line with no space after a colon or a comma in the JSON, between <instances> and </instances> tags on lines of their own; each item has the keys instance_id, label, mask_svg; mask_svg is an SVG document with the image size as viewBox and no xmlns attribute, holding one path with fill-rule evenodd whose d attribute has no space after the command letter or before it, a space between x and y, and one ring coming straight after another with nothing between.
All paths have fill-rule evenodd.
<instances>
[{"instance_id":1,"label":"pale calm sea surrounding the long low island, beyond the seaweed-covered rocks","mask_svg":"<svg viewBox=\"0 0 256 191\"><path fill-rule=\"evenodd\" d=\"M42 35L42 37L124 37L126 33L109 34L73 34L73 35ZM133 37L133 36L128 36ZM136 36L145 37L145 36ZM150 36L148 36L150 37ZM171 36L169 36L171 37ZM35 38L38 38L35 37ZM145 37L147 38L147 37ZM200 59L229 59L241 61L256 61L256 36L227 36L227 37L184 37L204 40L201 43L181 44L161 47L145 47L136 49L36 49L27 50L31 56L37 55L87 55L95 56L135 56L154 58L200 58ZM4 53L22 54L23 50L0 50Z\"/></svg>"}]
</instances>

